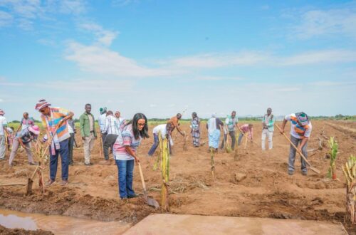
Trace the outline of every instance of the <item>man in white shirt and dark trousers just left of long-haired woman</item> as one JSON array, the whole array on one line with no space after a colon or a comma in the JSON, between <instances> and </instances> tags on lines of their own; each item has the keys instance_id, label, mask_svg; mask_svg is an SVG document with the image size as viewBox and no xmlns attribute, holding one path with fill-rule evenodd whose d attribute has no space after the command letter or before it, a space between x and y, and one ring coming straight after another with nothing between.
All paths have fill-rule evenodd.
<instances>
[{"instance_id":1,"label":"man in white shirt and dark trousers just left of long-haired woman","mask_svg":"<svg viewBox=\"0 0 356 235\"><path fill-rule=\"evenodd\" d=\"M114 145L117 136L120 135L120 123L117 120L116 117L114 117L114 114L112 113L112 111L108 111L108 113L106 113L106 119L105 119L105 129L104 131L106 132L106 137L104 140L104 157L105 160L109 160L109 147L111 147L112 150L112 146Z\"/></svg>"}]
</instances>

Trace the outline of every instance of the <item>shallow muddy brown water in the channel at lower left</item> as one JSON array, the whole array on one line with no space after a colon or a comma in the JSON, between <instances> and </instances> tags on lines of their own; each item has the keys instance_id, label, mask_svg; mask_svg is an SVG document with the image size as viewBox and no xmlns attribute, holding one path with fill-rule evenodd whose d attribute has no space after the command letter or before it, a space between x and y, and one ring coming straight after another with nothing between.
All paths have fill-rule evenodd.
<instances>
[{"instance_id":1,"label":"shallow muddy brown water in the channel at lower left","mask_svg":"<svg viewBox=\"0 0 356 235\"><path fill-rule=\"evenodd\" d=\"M9 229L43 229L53 234L123 234L131 227L119 221L96 221L68 216L23 213L0 209L0 224Z\"/></svg>"}]
</instances>

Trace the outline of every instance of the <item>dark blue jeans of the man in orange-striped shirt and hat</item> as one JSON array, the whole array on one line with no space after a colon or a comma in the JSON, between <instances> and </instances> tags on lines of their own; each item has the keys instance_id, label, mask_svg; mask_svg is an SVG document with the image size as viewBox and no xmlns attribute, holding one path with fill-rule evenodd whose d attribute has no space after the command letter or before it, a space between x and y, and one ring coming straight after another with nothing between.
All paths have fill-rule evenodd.
<instances>
[{"instance_id":1,"label":"dark blue jeans of the man in orange-striped shirt and hat","mask_svg":"<svg viewBox=\"0 0 356 235\"><path fill-rule=\"evenodd\" d=\"M55 155L51 155L51 146L49 147L49 152L50 152L50 162L49 162L49 174L52 180L56 180L56 174L57 174L57 165L58 165L58 155L61 155L61 162L62 162L62 179L63 180L68 180L68 142L69 138L67 140L63 140L59 142L59 150L56 150Z\"/></svg>"}]
</instances>

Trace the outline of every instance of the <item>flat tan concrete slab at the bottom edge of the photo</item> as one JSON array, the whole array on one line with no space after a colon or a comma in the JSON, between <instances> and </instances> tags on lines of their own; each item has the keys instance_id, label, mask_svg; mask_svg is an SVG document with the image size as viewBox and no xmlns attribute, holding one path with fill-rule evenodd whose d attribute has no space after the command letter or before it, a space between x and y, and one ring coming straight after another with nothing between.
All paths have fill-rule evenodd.
<instances>
[{"instance_id":1,"label":"flat tan concrete slab at the bottom edge of the photo","mask_svg":"<svg viewBox=\"0 0 356 235\"><path fill-rule=\"evenodd\" d=\"M263 219L186 214L152 214L125 235L174 234L347 234L342 224L326 221Z\"/></svg>"}]
</instances>

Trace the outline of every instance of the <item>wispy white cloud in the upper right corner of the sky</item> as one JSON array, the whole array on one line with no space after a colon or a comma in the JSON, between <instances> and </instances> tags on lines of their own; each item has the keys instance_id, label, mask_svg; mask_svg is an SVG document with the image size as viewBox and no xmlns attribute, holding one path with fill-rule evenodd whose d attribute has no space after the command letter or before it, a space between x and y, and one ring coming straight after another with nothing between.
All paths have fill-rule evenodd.
<instances>
[{"instance_id":1,"label":"wispy white cloud in the upper right corner of the sky","mask_svg":"<svg viewBox=\"0 0 356 235\"><path fill-rule=\"evenodd\" d=\"M356 4L325 11L311 10L299 16L298 25L293 27L293 36L301 39L324 35L356 37L355 25Z\"/></svg>"}]
</instances>

